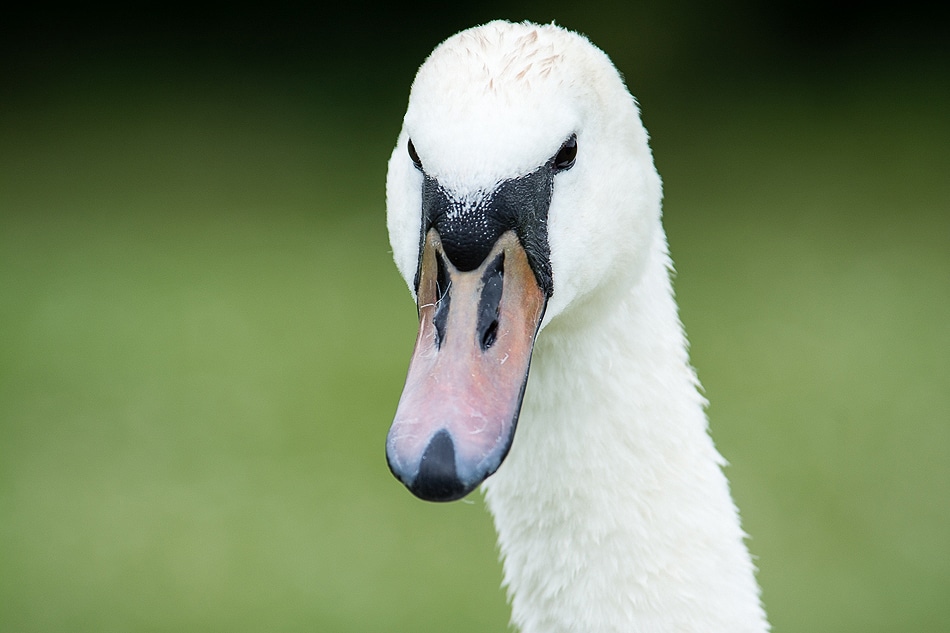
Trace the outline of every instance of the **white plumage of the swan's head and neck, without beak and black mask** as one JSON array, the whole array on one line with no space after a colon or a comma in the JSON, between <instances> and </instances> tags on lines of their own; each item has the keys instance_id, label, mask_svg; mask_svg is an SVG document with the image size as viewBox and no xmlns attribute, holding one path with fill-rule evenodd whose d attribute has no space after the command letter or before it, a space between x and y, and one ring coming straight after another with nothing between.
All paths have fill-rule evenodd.
<instances>
[{"instance_id":1,"label":"white plumage of the swan's head and neck, without beak and black mask","mask_svg":"<svg viewBox=\"0 0 950 633\"><path fill-rule=\"evenodd\" d=\"M765 631L673 299L660 179L603 52L507 22L435 49L389 163L396 264L415 292L423 172L477 204L572 134L576 163L554 177L545 219L553 293L513 444L484 484L512 621L523 633Z\"/></svg>"}]
</instances>

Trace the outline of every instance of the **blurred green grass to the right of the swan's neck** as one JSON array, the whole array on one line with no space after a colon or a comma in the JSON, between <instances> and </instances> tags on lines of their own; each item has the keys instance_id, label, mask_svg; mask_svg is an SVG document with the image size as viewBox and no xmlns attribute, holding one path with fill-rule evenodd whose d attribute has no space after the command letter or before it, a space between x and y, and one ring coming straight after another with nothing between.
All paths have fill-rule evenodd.
<instances>
[{"instance_id":1,"label":"blurred green grass to the right of the swan's neck","mask_svg":"<svg viewBox=\"0 0 950 633\"><path fill-rule=\"evenodd\" d=\"M709 135L670 130L698 135L688 158L657 140L692 358L776 631L950 626L948 102L906 74L764 88Z\"/></svg>"}]
</instances>

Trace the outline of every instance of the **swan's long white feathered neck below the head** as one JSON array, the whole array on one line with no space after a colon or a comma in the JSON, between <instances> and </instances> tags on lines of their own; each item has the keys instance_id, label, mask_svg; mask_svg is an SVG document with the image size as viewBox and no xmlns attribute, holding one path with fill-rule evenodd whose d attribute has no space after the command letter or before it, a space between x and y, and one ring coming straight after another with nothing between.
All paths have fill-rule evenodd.
<instances>
[{"instance_id":1,"label":"swan's long white feathered neck below the head","mask_svg":"<svg viewBox=\"0 0 950 633\"><path fill-rule=\"evenodd\" d=\"M707 432L658 229L539 335L519 428L484 485L522 633L768 630Z\"/></svg>"}]
</instances>

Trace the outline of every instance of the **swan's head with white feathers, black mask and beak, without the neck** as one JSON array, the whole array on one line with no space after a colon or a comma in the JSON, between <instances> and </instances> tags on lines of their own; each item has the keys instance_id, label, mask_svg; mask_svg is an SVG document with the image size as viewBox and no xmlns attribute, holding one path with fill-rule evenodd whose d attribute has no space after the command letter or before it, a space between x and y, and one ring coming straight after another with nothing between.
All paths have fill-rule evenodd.
<instances>
[{"instance_id":1,"label":"swan's head with white feathers, black mask and beak, without the neck","mask_svg":"<svg viewBox=\"0 0 950 633\"><path fill-rule=\"evenodd\" d=\"M420 317L387 459L414 494L458 499L499 467L535 338L640 274L659 208L636 103L587 39L492 22L432 52L387 178Z\"/></svg>"}]
</instances>

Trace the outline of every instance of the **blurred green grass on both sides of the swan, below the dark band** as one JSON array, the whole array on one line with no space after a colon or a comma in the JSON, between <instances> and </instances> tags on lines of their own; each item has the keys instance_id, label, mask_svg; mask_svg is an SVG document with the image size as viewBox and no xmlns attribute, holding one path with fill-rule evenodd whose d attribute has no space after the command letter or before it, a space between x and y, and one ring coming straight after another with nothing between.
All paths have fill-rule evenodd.
<instances>
[{"instance_id":1,"label":"blurred green grass on both sides of the swan, below the dark band","mask_svg":"<svg viewBox=\"0 0 950 633\"><path fill-rule=\"evenodd\" d=\"M948 92L740 88L639 96L775 630L944 631ZM481 500L418 502L383 456L402 105L265 80L5 104L0 629L506 630Z\"/></svg>"}]
</instances>

